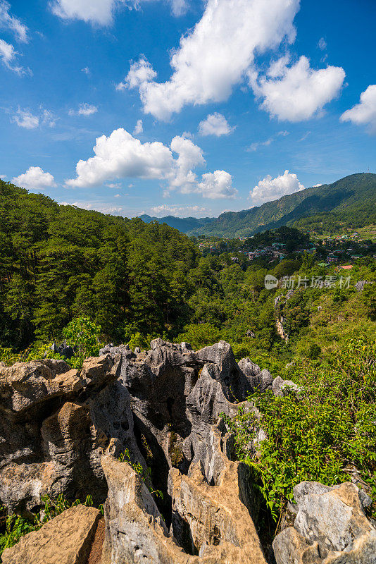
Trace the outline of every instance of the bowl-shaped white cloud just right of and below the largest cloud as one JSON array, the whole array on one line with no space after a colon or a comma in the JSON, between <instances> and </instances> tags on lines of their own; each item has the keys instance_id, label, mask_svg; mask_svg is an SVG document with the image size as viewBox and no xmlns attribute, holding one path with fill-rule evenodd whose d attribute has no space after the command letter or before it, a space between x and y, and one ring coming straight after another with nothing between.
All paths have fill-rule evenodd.
<instances>
[{"instance_id":1,"label":"bowl-shaped white cloud just right of and below the largest cloud","mask_svg":"<svg viewBox=\"0 0 376 564\"><path fill-rule=\"evenodd\" d=\"M273 68L273 78L250 75L256 96L263 98L261 107L284 121L303 121L320 113L322 108L337 97L344 82L341 67L327 66L314 71L305 56L294 65Z\"/></svg>"}]
</instances>

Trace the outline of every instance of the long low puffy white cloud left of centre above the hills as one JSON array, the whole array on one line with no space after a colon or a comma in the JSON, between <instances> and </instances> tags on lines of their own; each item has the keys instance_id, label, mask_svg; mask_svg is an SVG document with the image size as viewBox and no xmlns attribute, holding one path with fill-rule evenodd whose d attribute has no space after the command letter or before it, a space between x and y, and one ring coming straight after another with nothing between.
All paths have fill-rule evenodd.
<instances>
[{"instance_id":1,"label":"long low puffy white cloud left of centre above the hills","mask_svg":"<svg viewBox=\"0 0 376 564\"><path fill-rule=\"evenodd\" d=\"M208 198L233 197L232 178L225 171L203 174L199 180L194 172L204 166L202 150L186 137L176 136L170 147L163 143L145 142L123 128L96 139L95 156L78 161L77 178L66 180L70 188L98 186L115 178L149 178L165 181L168 192L201 194ZM174 156L177 155L176 157Z\"/></svg>"}]
</instances>

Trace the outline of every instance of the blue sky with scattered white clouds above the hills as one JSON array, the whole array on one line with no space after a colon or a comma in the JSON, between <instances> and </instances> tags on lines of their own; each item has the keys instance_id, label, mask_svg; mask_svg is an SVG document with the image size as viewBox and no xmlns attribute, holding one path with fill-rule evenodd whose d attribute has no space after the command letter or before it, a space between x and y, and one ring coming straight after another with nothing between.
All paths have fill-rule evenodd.
<instances>
[{"instance_id":1,"label":"blue sky with scattered white clouds above the hills","mask_svg":"<svg viewBox=\"0 0 376 564\"><path fill-rule=\"evenodd\" d=\"M0 0L0 176L213 216L375 172L373 0Z\"/></svg>"}]
</instances>

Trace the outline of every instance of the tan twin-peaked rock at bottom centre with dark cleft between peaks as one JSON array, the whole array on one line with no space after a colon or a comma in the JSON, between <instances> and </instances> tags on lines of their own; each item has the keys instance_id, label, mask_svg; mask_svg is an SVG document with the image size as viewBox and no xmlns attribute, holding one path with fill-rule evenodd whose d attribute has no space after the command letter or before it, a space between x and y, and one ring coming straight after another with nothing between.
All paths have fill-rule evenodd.
<instances>
[{"instance_id":1,"label":"tan twin-peaked rock at bottom centre with dark cleft between peaks","mask_svg":"<svg viewBox=\"0 0 376 564\"><path fill-rule=\"evenodd\" d=\"M223 458L215 484L208 484L197 465L190 467L189 476L170 470L170 534L139 474L127 463L104 455L108 499L101 564L266 564L249 510L242 503L253 502L243 465L220 453L221 434L214 428L211 439L217 460Z\"/></svg>"}]
</instances>

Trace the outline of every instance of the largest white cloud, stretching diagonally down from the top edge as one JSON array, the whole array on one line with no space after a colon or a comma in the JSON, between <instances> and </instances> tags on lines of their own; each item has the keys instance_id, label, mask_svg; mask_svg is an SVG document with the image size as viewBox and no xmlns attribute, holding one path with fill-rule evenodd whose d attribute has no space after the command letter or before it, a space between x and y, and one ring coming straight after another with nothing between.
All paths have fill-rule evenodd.
<instances>
[{"instance_id":1,"label":"largest white cloud, stretching diagonally down from the top edge","mask_svg":"<svg viewBox=\"0 0 376 564\"><path fill-rule=\"evenodd\" d=\"M171 57L170 80L153 81L149 66L148 78L127 83L139 87L145 113L161 119L187 104L223 101L253 65L256 51L275 48L284 37L294 40L298 10L299 0L208 0Z\"/></svg>"}]
</instances>

